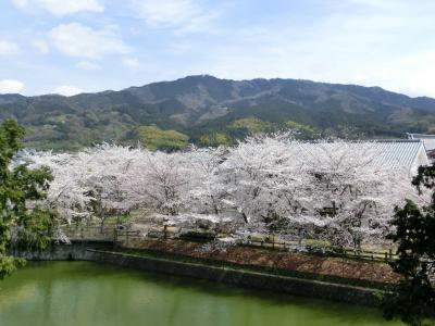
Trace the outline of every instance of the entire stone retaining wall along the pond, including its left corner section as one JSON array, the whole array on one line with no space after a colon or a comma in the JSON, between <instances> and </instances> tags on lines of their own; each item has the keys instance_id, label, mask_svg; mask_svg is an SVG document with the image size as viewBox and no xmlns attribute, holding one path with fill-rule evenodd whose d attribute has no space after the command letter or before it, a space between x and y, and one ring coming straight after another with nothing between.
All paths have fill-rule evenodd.
<instances>
[{"instance_id":1,"label":"entire stone retaining wall along the pond, including its left corner section","mask_svg":"<svg viewBox=\"0 0 435 326\"><path fill-rule=\"evenodd\" d=\"M72 244L52 243L42 252L13 252L27 260L67 261L83 260L107 263L140 271L219 281L235 286L284 292L293 296L333 300L353 304L378 306L380 290L332 284L326 281L278 276L265 273L188 263L152 256L112 252L113 242L88 241Z\"/></svg>"}]
</instances>

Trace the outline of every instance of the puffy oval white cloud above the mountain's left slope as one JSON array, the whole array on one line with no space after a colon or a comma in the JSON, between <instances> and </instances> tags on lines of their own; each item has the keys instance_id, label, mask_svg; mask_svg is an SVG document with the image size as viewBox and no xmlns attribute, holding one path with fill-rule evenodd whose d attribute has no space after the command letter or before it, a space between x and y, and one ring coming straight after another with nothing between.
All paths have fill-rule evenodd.
<instances>
[{"instance_id":1,"label":"puffy oval white cloud above the mountain's left slope","mask_svg":"<svg viewBox=\"0 0 435 326\"><path fill-rule=\"evenodd\" d=\"M111 27L92 29L79 23L62 24L51 29L49 37L59 51L70 57L98 59L109 53L129 52Z\"/></svg>"}]
</instances>

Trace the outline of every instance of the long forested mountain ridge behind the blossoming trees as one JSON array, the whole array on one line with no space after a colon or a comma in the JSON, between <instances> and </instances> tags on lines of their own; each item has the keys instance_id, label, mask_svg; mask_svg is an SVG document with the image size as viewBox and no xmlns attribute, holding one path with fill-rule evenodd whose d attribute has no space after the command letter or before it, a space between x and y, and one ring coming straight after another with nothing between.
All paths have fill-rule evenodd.
<instances>
[{"instance_id":1,"label":"long forested mountain ridge behind the blossoming trees","mask_svg":"<svg viewBox=\"0 0 435 326\"><path fill-rule=\"evenodd\" d=\"M26 127L26 142L36 148L134 141L142 125L174 129L191 141L212 131L237 137L234 121L252 117L273 128L300 124L320 135L403 137L435 127L435 99L380 87L200 75L73 97L0 95L0 120L7 117Z\"/></svg>"}]
</instances>

